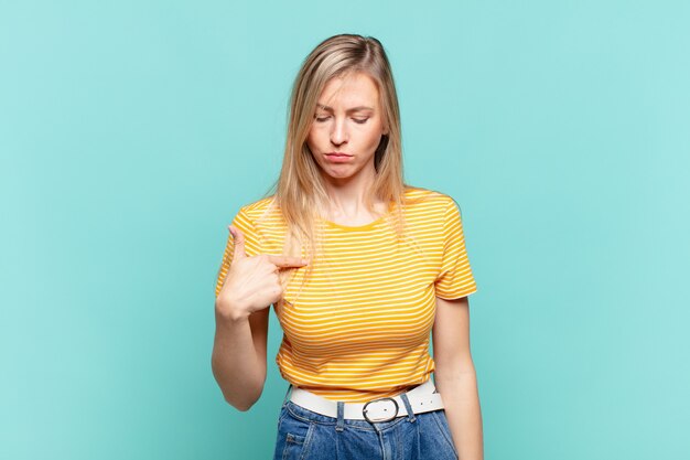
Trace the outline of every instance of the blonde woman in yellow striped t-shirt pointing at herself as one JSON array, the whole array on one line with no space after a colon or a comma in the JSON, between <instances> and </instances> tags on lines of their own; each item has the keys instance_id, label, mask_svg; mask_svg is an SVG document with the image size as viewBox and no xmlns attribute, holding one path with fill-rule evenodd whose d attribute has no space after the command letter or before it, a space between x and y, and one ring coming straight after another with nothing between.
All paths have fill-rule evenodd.
<instances>
[{"instance_id":1,"label":"blonde woman in yellow striped t-shirt pointing at herself","mask_svg":"<svg viewBox=\"0 0 690 460\"><path fill-rule=\"evenodd\" d=\"M290 384L276 459L483 458L460 210L403 183L378 40L335 35L306 57L276 192L229 231L213 372L239 410L260 397L272 304Z\"/></svg>"}]
</instances>

